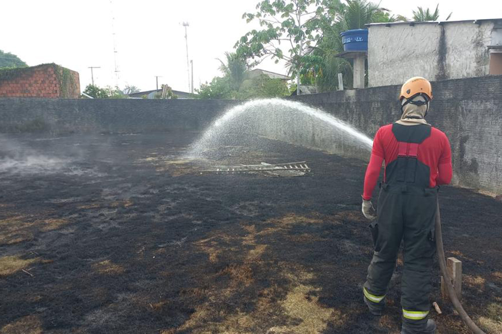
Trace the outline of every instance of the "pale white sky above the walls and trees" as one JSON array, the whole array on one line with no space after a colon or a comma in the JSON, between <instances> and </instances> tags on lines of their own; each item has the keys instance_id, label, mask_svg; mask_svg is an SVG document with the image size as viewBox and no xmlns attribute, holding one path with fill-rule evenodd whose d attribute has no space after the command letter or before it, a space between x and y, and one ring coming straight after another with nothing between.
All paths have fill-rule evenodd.
<instances>
[{"instance_id":1,"label":"pale white sky above the walls and trees","mask_svg":"<svg viewBox=\"0 0 502 334\"><path fill-rule=\"evenodd\" d=\"M220 76L218 59L232 52L238 39L256 24L246 24L259 0L0 0L0 50L11 52L29 66L56 63L80 74L80 87L123 88L142 91L161 84L188 91L183 22L188 22L188 56L193 60L194 87ZM382 0L393 14L412 17L420 5L434 10L440 20L502 18L502 2ZM114 33L114 34L113 34ZM114 52L116 51L116 53ZM118 77L115 75L115 64ZM284 63L266 60L258 68L287 74Z\"/></svg>"}]
</instances>

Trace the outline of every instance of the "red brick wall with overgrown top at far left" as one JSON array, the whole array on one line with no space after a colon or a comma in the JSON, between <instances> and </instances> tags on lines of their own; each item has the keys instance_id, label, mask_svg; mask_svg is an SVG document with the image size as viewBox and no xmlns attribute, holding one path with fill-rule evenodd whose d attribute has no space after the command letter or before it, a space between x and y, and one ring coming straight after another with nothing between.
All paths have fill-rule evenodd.
<instances>
[{"instance_id":1,"label":"red brick wall with overgrown top at far left","mask_svg":"<svg viewBox=\"0 0 502 334\"><path fill-rule=\"evenodd\" d=\"M0 97L78 98L78 73L44 64L0 70Z\"/></svg>"}]
</instances>

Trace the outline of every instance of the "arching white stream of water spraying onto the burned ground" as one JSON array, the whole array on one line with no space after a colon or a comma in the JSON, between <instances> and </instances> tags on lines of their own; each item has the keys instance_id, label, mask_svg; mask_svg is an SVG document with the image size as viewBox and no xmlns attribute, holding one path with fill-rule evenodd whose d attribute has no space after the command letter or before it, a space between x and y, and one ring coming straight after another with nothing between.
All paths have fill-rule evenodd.
<instances>
[{"instance_id":1,"label":"arching white stream of water spraying onto the burned ground","mask_svg":"<svg viewBox=\"0 0 502 334\"><path fill-rule=\"evenodd\" d=\"M297 101L266 99L229 109L194 142L188 156L207 157L222 143L245 147L249 138L257 136L349 156L368 155L372 146L362 132L321 109Z\"/></svg>"}]
</instances>

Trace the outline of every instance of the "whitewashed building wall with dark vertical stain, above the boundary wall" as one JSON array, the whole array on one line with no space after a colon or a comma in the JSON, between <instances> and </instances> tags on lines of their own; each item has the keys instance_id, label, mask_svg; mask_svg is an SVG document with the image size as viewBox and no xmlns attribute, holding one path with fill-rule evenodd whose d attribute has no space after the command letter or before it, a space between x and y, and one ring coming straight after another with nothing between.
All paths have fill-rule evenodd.
<instances>
[{"instance_id":1,"label":"whitewashed building wall with dark vertical stain, above the boundary wall","mask_svg":"<svg viewBox=\"0 0 502 334\"><path fill-rule=\"evenodd\" d=\"M487 46L500 31L495 21L371 25L370 87L398 85L411 77L447 80L489 74Z\"/></svg>"}]
</instances>

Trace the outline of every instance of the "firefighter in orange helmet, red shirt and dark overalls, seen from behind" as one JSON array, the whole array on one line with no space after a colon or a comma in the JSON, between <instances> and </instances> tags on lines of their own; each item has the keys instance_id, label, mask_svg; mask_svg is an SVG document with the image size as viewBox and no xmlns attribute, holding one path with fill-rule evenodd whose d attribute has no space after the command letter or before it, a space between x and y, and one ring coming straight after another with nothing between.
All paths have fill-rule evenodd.
<instances>
[{"instance_id":1,"label":"firefighter in orange helmet, red shirt and dark overalls, seen from behind","mask_svg":"<svg viewBox=\"0 0 502 334\"><path fill-rule=\"evenodd\" d=\"M363 286L363 299L372 314L382 314L404 240L402 334L429 334L436 329L434 320L428 319L436 252L436 201L438 186L451 181L452 167L448 138L425 120L431 100L432 87L426 79L411 78L403 85L401 119L376 132L364 177L362 213L371 220L374 254ZM383 161L385 173L376 217L371 194Z\"/></svg>"}]
</instances>

